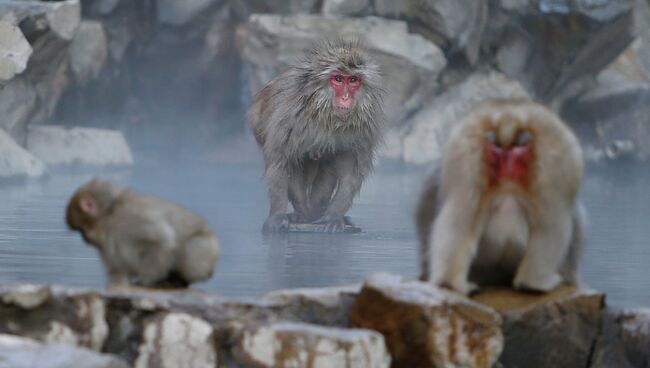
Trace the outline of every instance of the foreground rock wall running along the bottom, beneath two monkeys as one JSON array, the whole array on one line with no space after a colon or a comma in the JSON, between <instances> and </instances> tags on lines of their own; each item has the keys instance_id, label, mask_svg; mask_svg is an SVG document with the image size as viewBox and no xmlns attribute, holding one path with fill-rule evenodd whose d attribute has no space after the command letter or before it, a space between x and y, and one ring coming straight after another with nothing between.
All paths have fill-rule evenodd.
<instances>
[{"instance_id":1,"label":"foreground rock wall running along the bottom, beneath two monkeys","mask_svg":"<svg viewBox=\"0 0 650 368\"><path fill-rule=\"evenodd\" d=\"M469 299L380 273L256 300L0 288L0 362L11 367L32 367L30 354L38 367L63 367L55 357L65 351L77 367L625 368L646 366L649 344L650 310L610 308L602 293L569 287Z\"/></svg>"}]
</instances>

